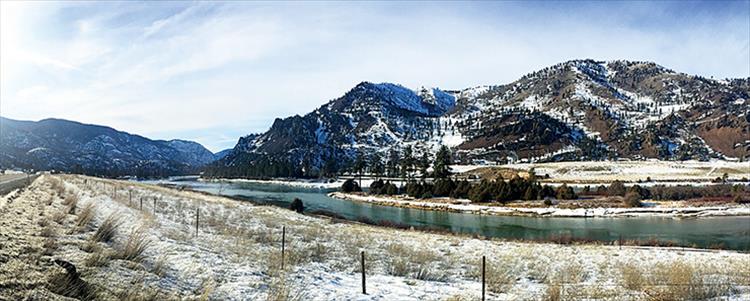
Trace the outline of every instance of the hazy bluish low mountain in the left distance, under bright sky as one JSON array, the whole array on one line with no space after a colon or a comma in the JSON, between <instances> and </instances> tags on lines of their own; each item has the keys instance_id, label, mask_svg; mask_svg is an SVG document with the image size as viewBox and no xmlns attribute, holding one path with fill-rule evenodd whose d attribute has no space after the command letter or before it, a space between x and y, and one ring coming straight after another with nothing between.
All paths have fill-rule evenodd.
<instances>
[{"instance_id":1,"label":"hazy bluish low mountain in the left distance, under bright sky","mask_svg":"<svg viewBox=\"0 0 750 301\"><path fill-rule=\"evenodd\" d=\"M0 169L59 170L142 177L197 173L217 155L185 140L151 140L62 119L0 117Z\"/></svg>"}]
</instances>

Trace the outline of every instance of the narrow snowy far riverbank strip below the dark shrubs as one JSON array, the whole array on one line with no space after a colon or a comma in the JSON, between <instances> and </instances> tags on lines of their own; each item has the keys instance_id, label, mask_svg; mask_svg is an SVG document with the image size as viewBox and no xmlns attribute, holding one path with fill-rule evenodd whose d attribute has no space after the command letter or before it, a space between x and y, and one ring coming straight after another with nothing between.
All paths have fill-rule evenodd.
<instances>
[{"instance_id":1,"label":"narrow snowy far riverbank strip below the dark shrubs","mask_svg":"<svg viewBox=\"0 0 750 301\"><path fill-rule=\"evenodd\" d=\"M656 204L640 208L558 208L550 207L507 207L473 204L469 200L431 199L417 200L406 196L381 196L355 193L331 192L328 196L347 201L365 202L383 206L414 208L423 210L451 211L461 213L533 216L533 217L638 217L658 216L672 218L711 217L711 216L750 216L750 205L706 206L706 207L663 207Z\"/></svg>"}]
</instances>

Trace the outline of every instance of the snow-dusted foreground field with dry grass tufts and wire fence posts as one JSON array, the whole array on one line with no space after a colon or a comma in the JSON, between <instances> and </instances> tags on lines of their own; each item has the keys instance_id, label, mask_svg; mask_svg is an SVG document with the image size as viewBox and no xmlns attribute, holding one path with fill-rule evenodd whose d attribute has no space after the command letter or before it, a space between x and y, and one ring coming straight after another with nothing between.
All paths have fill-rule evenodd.
<instances>
[{"instance_id":1,"label":"snow-dusted foreground field with dry grass tufts and wire fence posts","mask_svg":"<svg viewBox=\"0 0 750 301\"><path fill-rule=\"evenodd\" d=\"M92 242L108 219L112 241ZM0 299L59 298L61 259L97 299L477 300L482 256L488 300L750 298L750 254L431 234L82 176L3 196L0 229ZM134 245L142 253L123 256Z\"/></svg>"}]
</instances>

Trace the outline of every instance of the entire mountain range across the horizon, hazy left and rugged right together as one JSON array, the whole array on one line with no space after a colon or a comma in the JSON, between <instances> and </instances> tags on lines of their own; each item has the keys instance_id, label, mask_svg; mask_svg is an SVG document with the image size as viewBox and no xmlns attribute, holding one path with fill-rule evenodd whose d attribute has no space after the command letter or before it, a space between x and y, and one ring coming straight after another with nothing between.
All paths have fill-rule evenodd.
<instances>
[{"instance_id":1,"label":"entire mountain range across the horizon, hazy left and rugged right together","mask_svg":"<svg viewBox=\"0 0 750 301\"><path fill-rule=\"evenodd\" d=\"M314 177L351 166L358 154L385 161L407 146L420 156L441 145L461 163L744 160L749 95L750 78L713 80L651 62L574 60L510 84L462 90L362 82L216 154L195 142L104 126L0 118L0 168Z\"/></svg>"}]
</instances>

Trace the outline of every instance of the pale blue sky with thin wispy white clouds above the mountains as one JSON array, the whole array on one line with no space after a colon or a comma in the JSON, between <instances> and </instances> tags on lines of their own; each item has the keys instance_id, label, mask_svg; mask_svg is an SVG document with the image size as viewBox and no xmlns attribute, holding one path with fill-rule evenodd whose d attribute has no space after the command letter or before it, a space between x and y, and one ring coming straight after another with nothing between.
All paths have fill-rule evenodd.
<instances>
[{"instance_id":1,"label":"pale blue sky with thin wispy white clouds above the mountains","mask_svg":"<svg viewBox=\"0 0 750 301\"><path fill-rule=\"evenodd\" d=\"M219 151L362 81L463 89L583 58L750 77L750 1L2 1L0 115Z\"/></svg>"}]
</instances>

